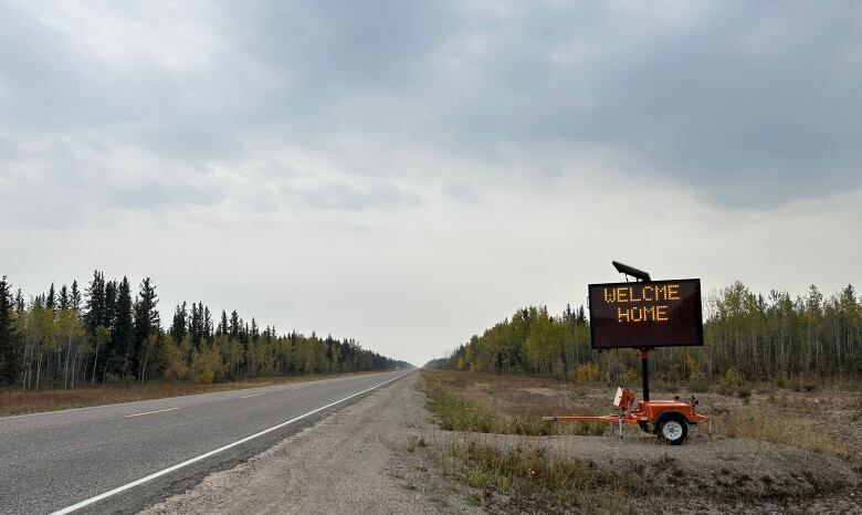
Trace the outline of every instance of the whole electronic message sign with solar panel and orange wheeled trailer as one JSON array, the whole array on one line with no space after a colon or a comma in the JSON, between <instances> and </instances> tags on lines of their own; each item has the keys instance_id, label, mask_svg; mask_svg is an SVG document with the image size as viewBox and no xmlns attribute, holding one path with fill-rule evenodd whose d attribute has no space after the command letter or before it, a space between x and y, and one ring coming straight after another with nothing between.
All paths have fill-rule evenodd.
<instances>
[{"instance_id":1,"label":"whole electronic message sign with solar panel and orange wheeled trailer","mask_svg":"<svg viewBox=\"0 0 862 515\"><path fill-rule=\"evenodd\" d=\"M643 400L634 402L634 392L618 388L616 414L605 417L545 417L558 422L611 422L638 424L654 432L671 445L685 441L688 424L707 420L695 412L697 400L650 400L650 350L656 347L703 345L701 280L652 281L650 274L613 262L620 273L637 282L589 285L590 340L593 349L635 348L640 350Z\"/></svg>"}]
</instances>

